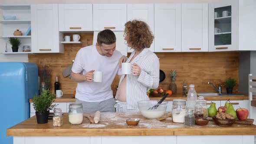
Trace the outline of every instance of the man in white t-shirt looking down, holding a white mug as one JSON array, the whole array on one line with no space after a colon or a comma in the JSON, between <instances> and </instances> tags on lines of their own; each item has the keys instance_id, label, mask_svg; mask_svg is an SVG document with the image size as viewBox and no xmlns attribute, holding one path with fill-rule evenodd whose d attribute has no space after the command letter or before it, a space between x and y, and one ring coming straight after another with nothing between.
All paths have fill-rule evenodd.
<instances>
[{"instance_id":1,"label":"man in white t-shirt looking down, holding a white mug","mask_svg":"<svg viewBox=\"0 0 256 144\"><path fill-rule=\"evenodd\" d=\"M96 45L86 46L76 54L71 79L78 82L75 98L82 103L84 112L115 112L111 84L116 74L121 77L119 59L126 60L115 50L115 42L115 33L105 29L98 33ZM102 82L93 82L95 71L103 73Z\"/></svg>"}]
</instances>

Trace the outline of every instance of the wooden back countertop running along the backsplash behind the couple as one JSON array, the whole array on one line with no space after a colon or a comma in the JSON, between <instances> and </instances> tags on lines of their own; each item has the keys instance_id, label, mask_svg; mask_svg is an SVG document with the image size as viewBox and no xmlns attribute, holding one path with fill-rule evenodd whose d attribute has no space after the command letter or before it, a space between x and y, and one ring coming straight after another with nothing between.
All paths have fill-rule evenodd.
<instances>
[{"instance_id":1,"label":"wooden back countertop running along the backsplash behind the couple","mask_svg":"<svg viewBox=\"0 0 256 144\"><path fill-rule=\"evenodd\" d=\"M149 97L152 100L160 100L161 97ZM171 95L171 97L167 97L166 101L173 101L174 99L186 99L186 97L183 97L181 94ZM230 100L248 100L248 95L246 96L212 96L212 97L204 97L207 101L226 101L228 99ZM256 96L253 97L253 99L256 99ZM73 95L63 95L61 98L56 98L54 102L75 102L75 97ZM32 100L30 99L30 103L32 103Z\"/></svg>"}]
</instances>

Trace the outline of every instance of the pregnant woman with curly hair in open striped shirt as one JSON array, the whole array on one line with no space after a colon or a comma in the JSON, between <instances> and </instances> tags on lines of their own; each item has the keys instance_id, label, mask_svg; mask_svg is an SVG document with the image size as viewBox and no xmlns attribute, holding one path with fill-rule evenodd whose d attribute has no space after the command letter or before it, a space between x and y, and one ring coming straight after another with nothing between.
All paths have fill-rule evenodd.
<instances>
[{"instance_id":1,"label":"pregnant woman with curly hair in open striped shirt","mask_svg":"<svg viewBox=\"0 0 256 144\"><path fill-rule=\"evenodd\" d=\"M138 101L148 100L147 91L158 88L159 59L148 49L154 36L147 23L140 20L125 23L125 40L134 49L126 61L132 64L132 74L122 75L115 107L116 112L139 112Z\"/></svg>"}]
</instances>

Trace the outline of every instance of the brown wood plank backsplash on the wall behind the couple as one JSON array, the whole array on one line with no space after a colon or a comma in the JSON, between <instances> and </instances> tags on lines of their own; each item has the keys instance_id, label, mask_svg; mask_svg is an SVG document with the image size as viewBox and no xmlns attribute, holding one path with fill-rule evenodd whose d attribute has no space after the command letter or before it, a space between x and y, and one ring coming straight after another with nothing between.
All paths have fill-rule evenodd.
<instances>
[{"instance_id":1,"label":"brown wood plank backsplash on the wall behind the couple","mask_svg":"<svg viewBox=\"0 0 256 144\"><path fill-rule=\"evenodd\" d=\"M72 36L72 34L67 35ZM62 71L72 64L79 49L92 45L93 34L80 34L80 36L82 44L66 44L64 54L29 55L29 62L36 63L39 70L44 65L52 70L52 91L58 75L63 93L73 94L77 84L69 78L64 78ZM216 87L223 85L223 92L226 92L224 81L229 77L237 80L233 92L239 92L239 52L158 52L156 55L160 58L160 69L166 75L164 81L159 84L164 90L169 89L171 69L176 69L178 93L182 92L183 80L186 80L187 85L194 84L197 92L215 92L216 90L207 82L212 82ZM114 95L118 82L116 76L111 86Z\"/></svg>"}]
</instances>

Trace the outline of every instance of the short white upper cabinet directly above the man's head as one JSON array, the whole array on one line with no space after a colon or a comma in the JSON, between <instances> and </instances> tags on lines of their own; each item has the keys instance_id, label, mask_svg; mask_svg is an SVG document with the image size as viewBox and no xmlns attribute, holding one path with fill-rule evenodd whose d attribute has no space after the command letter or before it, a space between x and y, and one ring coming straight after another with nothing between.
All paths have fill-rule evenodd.
<instances>
[{"instance_id":1,"label":"short white upper cabinet directly above the man's head","mask_svg":"<svg viewBox=\"0 0 256 144\"><path fill-rule=\"evenodd\" d=\"M126 11L126 4L93 4L93 30L124 31Z\"/></svg>"}]
</instances>

